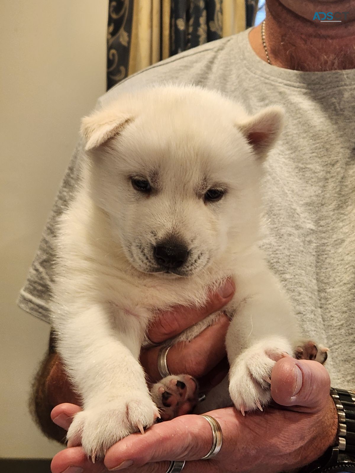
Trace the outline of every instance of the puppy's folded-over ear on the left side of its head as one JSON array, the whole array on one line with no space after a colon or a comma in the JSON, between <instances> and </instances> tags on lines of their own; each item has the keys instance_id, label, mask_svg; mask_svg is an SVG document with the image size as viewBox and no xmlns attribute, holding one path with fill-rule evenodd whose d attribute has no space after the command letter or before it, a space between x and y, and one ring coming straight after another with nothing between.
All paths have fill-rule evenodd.
<instances>
[{"instance_id":1,"label":"puppy's folded-over ear on the left side of its head","mask_svg":"<svg viewBox=\"0 0 355 473\"><path fill-rule=\"evenodd\" d=\"M85 151L98 148L109 138L120 133L133 120L130 114L100 110L81 120L80 133L86 140Z\"/></svg>"}]
</instances>

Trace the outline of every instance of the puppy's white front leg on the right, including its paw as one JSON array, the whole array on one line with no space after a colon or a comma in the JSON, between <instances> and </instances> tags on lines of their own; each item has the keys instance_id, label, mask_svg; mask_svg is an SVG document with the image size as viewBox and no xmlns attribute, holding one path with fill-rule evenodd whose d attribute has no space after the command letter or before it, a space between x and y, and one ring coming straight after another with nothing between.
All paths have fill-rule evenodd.
<instances>
[{"instance_id":1,"label":"puppy's white front leg on the right, including its paw","mask_svg":"<svg viewBox=\"0 0 355 473\"><path fill-rule=\"evenodd\" d=\"M229 391L241 412L262 410L271 399L275 362L285 354L293 356L297 328L286 295L266 267L237 283L239 304L226 337Z\"/></svg>"}]
</instances>

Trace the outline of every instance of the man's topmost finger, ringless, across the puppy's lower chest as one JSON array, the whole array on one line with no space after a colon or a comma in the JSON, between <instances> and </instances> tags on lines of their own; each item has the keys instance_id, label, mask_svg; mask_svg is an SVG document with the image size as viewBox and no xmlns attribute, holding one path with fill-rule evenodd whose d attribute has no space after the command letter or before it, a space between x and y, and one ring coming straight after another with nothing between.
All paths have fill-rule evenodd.
<instances>
[{"instance_id":1,"label":"man's topmost finger, ringless, across the puppy's lower chest","mask_svg":"<svg viewBox=\"0 0 355 473\"><path fill-rule=\"evenodd\" d=\"M148 330L149 340L160 343L168 340L168 338L175 337L186 328L203 320L207 315L222 309L231 300L234 291L234 282L228 279L218 292L210 295L204 307L177 306L172 310L161 313Z\"/></svg>"}]
</instances>

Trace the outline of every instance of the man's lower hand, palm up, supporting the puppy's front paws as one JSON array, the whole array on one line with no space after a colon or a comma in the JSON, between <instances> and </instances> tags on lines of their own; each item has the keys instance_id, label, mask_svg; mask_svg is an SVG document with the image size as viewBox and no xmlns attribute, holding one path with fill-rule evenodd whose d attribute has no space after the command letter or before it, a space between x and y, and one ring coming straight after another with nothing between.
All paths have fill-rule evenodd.
<instances>
[{"instance_id":1,"label":"man's lower hand, palm up, supporting the puppy's front paws","mask_svg":"<svg viewBox=\"0 0 355 473\"><path fill-rule=\"evenodd\" d=\"M280 404L243 417L234 408L209 412L223 431L223 445L211 460L200 460L212 445L212 431L201 416L185 415L156 424L111 447L104 462L92 464L80 447L54 456L52 472L103 473L128 468L130 473L165 473L169 460L187 460L184 473L276 473L317 459L334 443L337 412L329 396L327 370L316 361L283 358L273 369L272 397ZM286 406L286 409L280 408ZM80 408L63 404L52 419L68 428ZM61 416L60 418L58 416ZM73 473L79 470L72 470Z\"/></svg>"}]
</instances>

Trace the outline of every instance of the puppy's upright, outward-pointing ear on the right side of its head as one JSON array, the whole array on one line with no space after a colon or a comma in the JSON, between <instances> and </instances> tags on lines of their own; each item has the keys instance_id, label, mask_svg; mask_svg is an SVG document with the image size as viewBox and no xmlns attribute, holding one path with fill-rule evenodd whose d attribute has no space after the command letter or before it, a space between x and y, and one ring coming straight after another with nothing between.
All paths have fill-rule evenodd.
<instances>
[{"instance_id":1,"label":"puppy's upright, outward-pointing ear on the right side of its head","mask_svg":"<svg viewBox=\"0 0 355 473\"><path fill-rule=\"evenodd\" d=\"M284 123L284 111L281 107L267 107L265 110L249 117L245 122L238 123L237 127L254 149L259 160L266 158Z\"/></svg>"}]
</instances>

